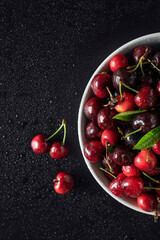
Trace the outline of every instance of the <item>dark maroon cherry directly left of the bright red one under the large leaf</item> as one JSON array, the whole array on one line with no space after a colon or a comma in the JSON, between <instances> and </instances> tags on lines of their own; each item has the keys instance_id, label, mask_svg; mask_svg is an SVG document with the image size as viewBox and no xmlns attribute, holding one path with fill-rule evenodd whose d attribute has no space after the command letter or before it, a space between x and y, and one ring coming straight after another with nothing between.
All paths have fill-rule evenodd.
<instances>
[{"instance_id":1,"label":"dark maroon cherry directly left of the bright red one under the large leaf","mask_svg":"<svg viewBox=\"0 0 160 240\"><path fill-rule=\"evenodd\" d=\"M113 152L113 161L118 165L130 165L134 157L135 152L124 145L116 147Z\"/></svg>"}]
</instances>

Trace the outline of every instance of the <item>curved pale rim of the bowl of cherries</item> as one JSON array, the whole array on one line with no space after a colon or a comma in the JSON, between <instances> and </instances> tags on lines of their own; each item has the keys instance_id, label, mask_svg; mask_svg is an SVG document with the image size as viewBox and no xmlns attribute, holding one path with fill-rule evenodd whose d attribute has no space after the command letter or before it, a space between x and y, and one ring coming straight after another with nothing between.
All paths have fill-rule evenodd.
<instances>
[{"instance_id":1,"label":"curved pale rim of the bowl of cherries","mask_svg":"<svg viewBox=\"0 0 160 240\"><path fill-rule=\"evenodd\" d=\"M84 156L83 154L83 136L84 136L84 132L82 133L82 124L83 124L83 118L84 118L84 113L83 113L83 108L84 108L84 105L86 103L86 96L87 96L87 93L89 92L90 90L90 85L91 85L91 81L93 79L93 77L98 74L100 71L102 71L103 67L109 63L110 59L117 53L121 53L121 52L125 52L126 49L127 51L126 52L129 52L129 49L130 50L133 50L136 46L138 45L149 45L150 41L151 41L151 44L153 44L153 42L157 41L157 39L159 39L160 41L160 32L157 32L157 33L151 33L151 34L147 34L147 35L144 35L144 36L141 36L141 37L138 37L138 38L135 38L134 40L131 40L125 44L123 44L121 47L117 48L114 52L112 52L111 54L108 55L108 57L106 57L104 59L104 61L97 67L97 69L95 70L95 72L92 74L90 80L88 81L86 87L85 87L85 90L83 92L83 95L82 95L82 98L81 98L81 102L80 102L80 106L79 106L79 112L78 112L78 138L79 138L79 144L80 144L80 148L81 148L81 152L82 152L82 155L83 155L83 158L85 160L85 163L89 169L89 171L91 172L91 174L93 175L93 177L95 178L95 180L98 182L98 184L111 196L113 197L115 200L117 200L118 202L120 202L121 204L123 204L124 206L126 207L129 207L130 209L133 209L135 211L138 211L138 212L141 212L141 213L145 213L145 214L148 214L148 215L154 215L154 212L146 212L146 211L143 211L142 209L140 209L138 206L134 206L133 203L129 203L128 201L126 201L126 198L120 198L120 197L117 197L115 196L114 194L112 194L109 189L106 188L104 182L102 180L100 180L99 176L97 176L97 174L95 173L94 169L93 169L93 164L95 165L95 163L91 163L89 162L86 157ZM100 170L99 170L100 171ZM131 199L130 199L131 200ZM160 211L158 211L160 213Z\"/></svg>"}]
</instances>

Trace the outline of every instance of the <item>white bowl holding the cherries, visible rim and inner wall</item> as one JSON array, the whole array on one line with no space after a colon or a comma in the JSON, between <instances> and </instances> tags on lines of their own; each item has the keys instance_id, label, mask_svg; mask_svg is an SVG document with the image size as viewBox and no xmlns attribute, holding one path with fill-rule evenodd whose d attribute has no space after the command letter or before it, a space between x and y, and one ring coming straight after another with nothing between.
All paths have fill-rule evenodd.
<instances>
[{"instance_id":1,"label":"white bowl holding the cherries, visible rim and inner wall","mask_svg":"<svg viewBox=\"0 0 160 240\"><path fill-rule=\"evenodd\" d=\"M109 68L109 61L110 59L117 53L123 53L123 54L128 54L131 51L133 51L133 49L139 45L149 45L149 46L157 46L159 45L159 49L160 49L160 33L153 33L153 34L149 34L149 35L145 35L143 37L139 37L136 38L126 44L124 44L123 46L121 46L120 48L118 48L116 51L114 51L112 54L110 54L101 64L100 66L96 69L96 71L94 72L94 74L92 75L92 77L90 78L85 91L83 93L82 99L81 99L81 103L80 103L80 107L79 107L79 114L78 114L78 137L79 137L79 143L80 143L80 147L81 147L81 151L83 154L83 146L84 144L87 142L87 138L85 135L85 127L86 127L86 123L87 123L87 119L84 115L83 112L83 108L84 105L86 104L86 102L93 96L92 93L92 89L91 89L91 81L93 79L93 77L98 74L99 72L102 72L104 70L107 70ZM114 194L112 194L109 190L109 183L110 181L106 178L106 176L104 175L104 173L99 169L99 163L91 163L89 162L84 154L83 154L84 160L87 164L87 167L89 168L90 172L92 173L93 177L96 179L96 181L99 183L99 185L110 195L112 196L114 199L116 199L118 202L122 203L123 205L134 209L138 212L141 213L145 213L145 214L149 214L149 215L153 215L154 212L145 212L143 210L141 210L138 206L137 206L137 202L136 199L133 198L120 198L115 196ZM160 213L160 211L159 211Z\"/></svg>"}]
</instances>

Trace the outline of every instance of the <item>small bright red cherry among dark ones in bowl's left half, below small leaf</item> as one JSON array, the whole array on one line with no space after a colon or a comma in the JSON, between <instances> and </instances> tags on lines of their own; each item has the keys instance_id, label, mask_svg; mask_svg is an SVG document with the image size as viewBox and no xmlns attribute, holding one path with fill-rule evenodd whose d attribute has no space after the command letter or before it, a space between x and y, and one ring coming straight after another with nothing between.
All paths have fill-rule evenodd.
<instances>
[{"instance_id":1,"label":"small bright red cherry among dark ones in bowl's left half, below small leaf","mask_svg":"<svg viewBox=\"0 0 160 240\"><path fill-rule=\"evenodd\" d=\"M104 147L106 145L117 145L119 140L119 133L113 129L104 130L101 136L101 143Z\"/></svg>"}]
</instances>

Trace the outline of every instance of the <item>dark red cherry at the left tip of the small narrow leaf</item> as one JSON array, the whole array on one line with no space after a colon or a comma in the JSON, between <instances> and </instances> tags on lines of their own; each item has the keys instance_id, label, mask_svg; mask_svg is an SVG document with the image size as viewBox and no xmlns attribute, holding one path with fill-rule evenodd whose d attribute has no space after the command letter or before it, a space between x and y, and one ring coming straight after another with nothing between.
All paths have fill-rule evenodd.
<instances>
[{"instance_id":1,"label":"dark red cherry at the left tip of the small narrow leaf","mask_svg":"<svg viewBox=\"0 0 160 240\"><path fill-rule=\"evenodd\" d=\"M115 128L117 121L112 119L115 115L115 110L109 108L101 109L97 116L98 126L103 130Z\"/></svg>"}]
</instances>

